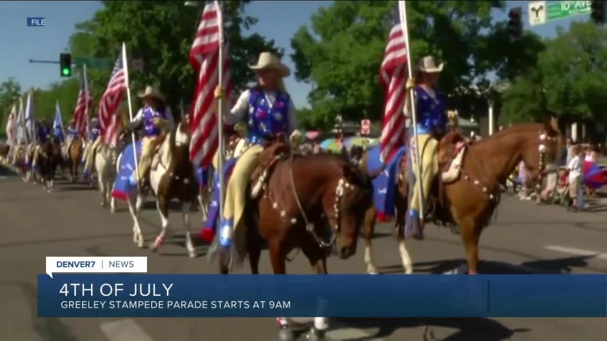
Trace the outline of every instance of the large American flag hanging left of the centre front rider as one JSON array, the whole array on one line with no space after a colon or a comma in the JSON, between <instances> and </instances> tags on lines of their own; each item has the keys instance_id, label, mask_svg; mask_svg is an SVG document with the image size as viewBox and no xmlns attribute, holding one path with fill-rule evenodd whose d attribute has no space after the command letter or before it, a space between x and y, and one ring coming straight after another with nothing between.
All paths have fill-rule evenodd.
<instances>
[{"instance_id":1,"label":"large American flag hanging left of the centre front rider","mask_svg":"<svg viewBox=\"0 0 607 341\"><path fill-rule=\"evenodd\" d=\"M214 90L219 84L219 30L223 30L221 8L216 1L208 2L198 25L198 32L190 50L190 64L198 75L196 92L190 112L190 158L195 165L206 167L211 163L217 150L219 130L217 129L217 104ZM229 77L228 48L223 52L223 84L226 98L232 92ZM227 84L227 85L225 85Z\"/></svg>"}]
</instances>

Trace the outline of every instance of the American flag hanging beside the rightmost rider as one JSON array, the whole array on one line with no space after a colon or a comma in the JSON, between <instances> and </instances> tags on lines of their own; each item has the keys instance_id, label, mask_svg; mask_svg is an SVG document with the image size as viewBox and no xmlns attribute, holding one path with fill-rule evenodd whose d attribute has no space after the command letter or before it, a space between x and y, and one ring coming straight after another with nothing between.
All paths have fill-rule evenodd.
<instances>
[{"instance_id":1,"label":"American flag hanging beside the rightmost rider","mask_svg":"<svg viewBox=\"0 0 607 341\"><path fill-rule=\"evenodd\" d=\"M384 87L385 99L379 148L382 160L385 162L390 161L399 147L404 144L406 135L402 109L405 103L405 84L409 72L407 70L407 46L402 33L397 5L380 70L380 81Z\"/></svg>"}]
</instances>

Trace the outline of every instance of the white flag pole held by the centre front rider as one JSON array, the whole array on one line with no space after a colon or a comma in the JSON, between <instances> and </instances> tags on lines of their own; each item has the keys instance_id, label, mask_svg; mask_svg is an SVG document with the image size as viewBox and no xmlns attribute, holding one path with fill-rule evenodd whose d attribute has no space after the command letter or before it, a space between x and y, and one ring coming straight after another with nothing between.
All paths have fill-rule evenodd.
<instances>
[{"instance_id":1,"label":"white flag pole held by the centre front rider","mask_svg":"<svg viewBox=\"0 0 607 341\"><path fill-rule=\"evenodd\" d=\"M215 7L217 7L217 22L219 23L219 51L217 53L217 64L218 64L218 80L219 86L223 89L223 12L219 5L219 1L215 0ZM202 68L201 68L202 70ZM219 129L219 151L218 151L218 171L219 171L219 212L223 214L223 200L225 200L225 186L223 186L223 158L225 157L225 146L223 141L223 105L224 99L222 96L217 98L217 129Z\"/></svg>"}]
</instances>

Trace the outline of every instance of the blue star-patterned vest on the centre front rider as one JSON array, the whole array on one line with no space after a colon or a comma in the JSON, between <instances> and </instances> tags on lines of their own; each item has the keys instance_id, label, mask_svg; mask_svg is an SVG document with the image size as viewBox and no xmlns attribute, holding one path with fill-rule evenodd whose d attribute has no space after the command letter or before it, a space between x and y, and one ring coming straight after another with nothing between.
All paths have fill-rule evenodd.
<instances>
[{"instance_id":1,"label":"blue star-patterned vest on the centre front rider","mask_svg":"<svg viewBox=\"0 0 607 341\"><path fill-rule=\"evenodd\" d=\"M289 95L277 92L274 105L266 99L263 91L257 87L249 90L248 141L260 143L266 137L278 133L288 133Z\"/></svg>"}]
</instances>

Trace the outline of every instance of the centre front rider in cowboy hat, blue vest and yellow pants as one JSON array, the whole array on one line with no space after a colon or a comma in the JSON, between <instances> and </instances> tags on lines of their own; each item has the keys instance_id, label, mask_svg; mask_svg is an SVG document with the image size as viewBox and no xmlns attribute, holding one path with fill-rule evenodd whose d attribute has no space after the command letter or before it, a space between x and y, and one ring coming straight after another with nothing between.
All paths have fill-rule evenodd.
<instances>
[{"instance_id":1,"label":"centre front rider in cowboy hat, blue vest and yellow pants","mask_svg":"<svg viewBox=\"0 0 607 341\"><path fill-rule=\"evenodd\" d=\"M220 225L220 243L229 246L234 229L241 223L249 177L256 169L262 143L279 133L292 133L296 127L295 107L285 91L282 78L290 75L289 67L270 52L262 52L259 61L249 66L257 72L257 85L240 94L236 105L223 115L226 124L245 121L249 146L240 155L226 187L225 203ZM215 89L215 96L223 96L223 89Z\"/></svg>"}]
</instances>

